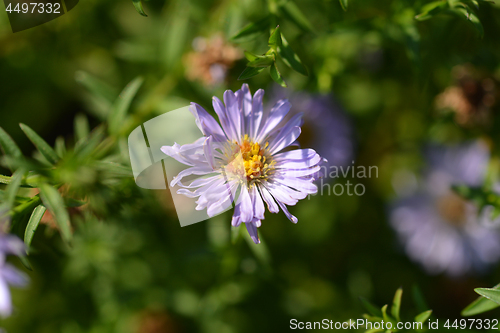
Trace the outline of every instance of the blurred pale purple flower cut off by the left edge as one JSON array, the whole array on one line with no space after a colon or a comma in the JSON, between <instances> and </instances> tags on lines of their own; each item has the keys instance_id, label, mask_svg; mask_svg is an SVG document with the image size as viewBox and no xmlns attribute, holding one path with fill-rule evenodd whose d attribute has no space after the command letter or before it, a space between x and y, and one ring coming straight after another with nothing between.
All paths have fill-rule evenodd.
<instances>
[{"instance_id":1,"label":"blurred pale purple flower cut off by the left edge","mask_svg":"<svg viewBox=\"0 0 500 333\"><path fill-rule=\"evenodd\" d=\"M0 219L3 213L0 212ZM8 224L7 219L0 221L0 316L8 317L12 314L12 300L9 286L23 287L28 283L28 277L17 268L5 261L7 255L22 256L26 254L24 242L17 236L6 234L4 226Z\"/></svg>"}]
</instances>

